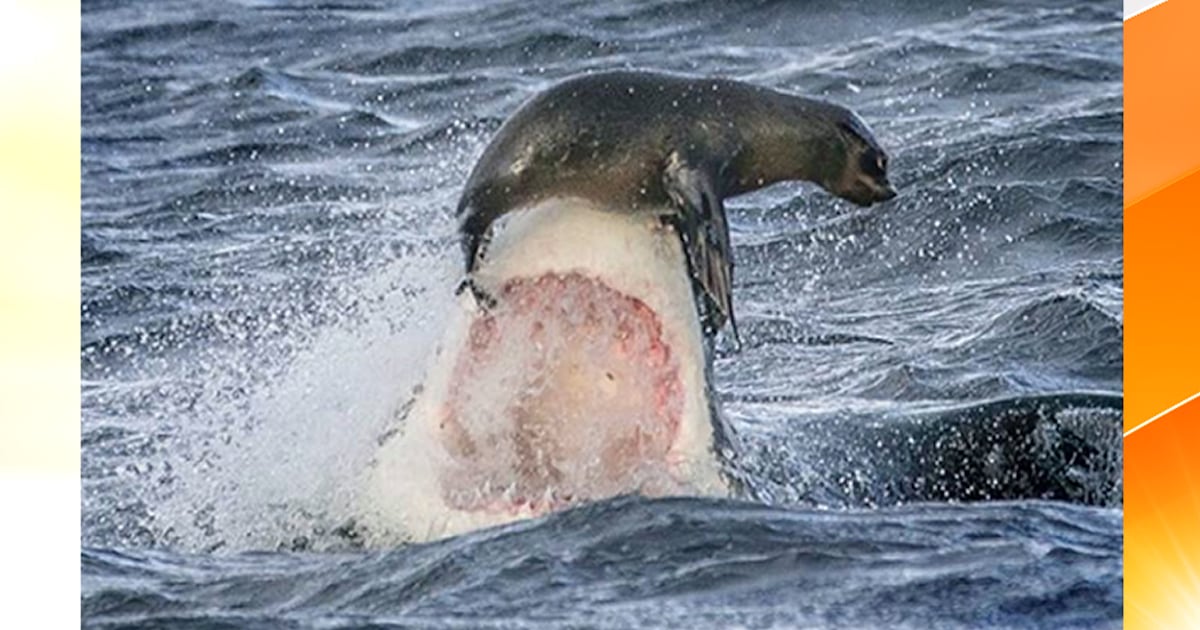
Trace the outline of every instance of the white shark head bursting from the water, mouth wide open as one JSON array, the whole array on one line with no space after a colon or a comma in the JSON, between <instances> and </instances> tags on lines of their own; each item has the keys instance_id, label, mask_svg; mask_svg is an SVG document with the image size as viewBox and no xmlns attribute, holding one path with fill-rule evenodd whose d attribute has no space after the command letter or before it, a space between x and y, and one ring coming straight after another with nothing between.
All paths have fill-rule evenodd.
<instances>
[{"instance_id":1,"label":"white shark head bursting from the water, mouth wide open","mask_svg":"<svg viewBox=\"0 0 1200 630\"><path fill-rule=\"evenodd\" d=\"M679 238L650 212L509 212L367 472L372 538L428 540L617 494L725 496Z\"/></svg>"}]
</instances>

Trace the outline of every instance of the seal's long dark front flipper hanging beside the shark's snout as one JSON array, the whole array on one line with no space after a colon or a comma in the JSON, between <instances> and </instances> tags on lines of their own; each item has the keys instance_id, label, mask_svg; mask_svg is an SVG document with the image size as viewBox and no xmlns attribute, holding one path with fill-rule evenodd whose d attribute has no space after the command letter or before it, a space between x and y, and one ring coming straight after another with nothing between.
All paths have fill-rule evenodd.
<instances>
[{"instance_id":1,"label":"seal's long dark front flipper hanging beside the shark's snout","mask_svg":"<svg viewBox=\"0 0 1200 630\"><path fill-rule=\"evenodd\" d=\"M737 320L733 317L733 250L730 246L730 224L725 205L716 194L713 176L683 158L671 154L662 172L667 196L679 208L678 228L688 254L691 277L704 292L704 330L716 334L730 322L738 348Z\"/></svg>"}]
</instances>

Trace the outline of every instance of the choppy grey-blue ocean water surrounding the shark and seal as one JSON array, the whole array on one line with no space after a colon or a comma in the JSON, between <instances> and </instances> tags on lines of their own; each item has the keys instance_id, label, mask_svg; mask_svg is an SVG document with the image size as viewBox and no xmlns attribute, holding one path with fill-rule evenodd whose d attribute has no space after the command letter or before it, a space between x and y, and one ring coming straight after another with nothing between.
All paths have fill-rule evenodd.
<instances>
[{"instance_id":1,"label":"choppy grey-blue ocean water surrounding the shark and seal","mask_svg":"<svg viewBox=\"0 0 1200 630\"><path fill-rule=\"evenodd\" d=\"M83 4L83 612L142 628L1110 628L1121 6ZM580 72L856 109L900 197L728 202L734 499L354 527L504 118Z\"/></svg>"}]
</instances>

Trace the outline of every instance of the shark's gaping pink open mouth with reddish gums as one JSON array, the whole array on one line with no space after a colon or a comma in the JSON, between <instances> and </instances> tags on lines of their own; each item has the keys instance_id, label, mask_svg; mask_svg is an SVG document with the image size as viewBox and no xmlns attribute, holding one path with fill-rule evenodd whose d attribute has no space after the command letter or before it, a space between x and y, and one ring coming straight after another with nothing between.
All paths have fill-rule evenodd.
<instances>
[{"instance_id":1,"label":"shark's gaping pink open mouth with reddish gums","mask_svg":"<svg viewBox=\"0 0 1200 630\"><path fill-rule=\"evenodd\" d=\"M580 272L512 277L472 323L438 422L460 510L544 514L671 485L679 360L642 300Z\"/></svg>"}]
</instances>

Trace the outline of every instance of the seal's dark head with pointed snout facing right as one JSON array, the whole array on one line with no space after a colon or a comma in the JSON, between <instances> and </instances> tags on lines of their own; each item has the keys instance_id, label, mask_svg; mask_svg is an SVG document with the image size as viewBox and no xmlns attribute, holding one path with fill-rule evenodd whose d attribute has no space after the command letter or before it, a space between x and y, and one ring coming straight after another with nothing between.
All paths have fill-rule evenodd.
<instances>
[{"instance_id":1,"label":"seal's dark head with pointed snout facing right","mask_svg":"<svg viewBox=\"0 0 1200 630\"><path fill-rule=\"evenodd\" d=\"M896 196L888 182L888 155L875 140L871 130L853 112L839 116L838 133L846 161L823 182L829 192L862 206L886 202Z\"/></svg>"}]
</instances>

